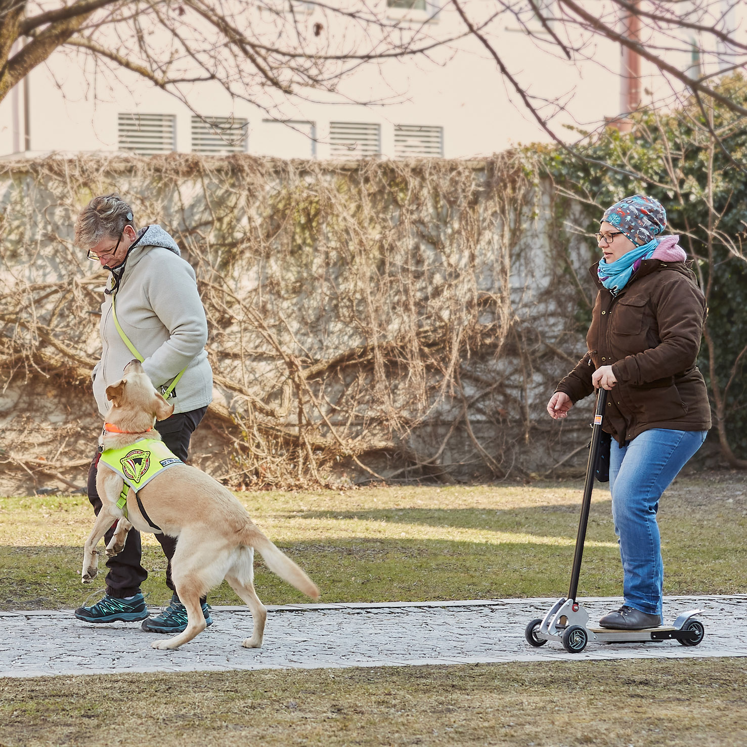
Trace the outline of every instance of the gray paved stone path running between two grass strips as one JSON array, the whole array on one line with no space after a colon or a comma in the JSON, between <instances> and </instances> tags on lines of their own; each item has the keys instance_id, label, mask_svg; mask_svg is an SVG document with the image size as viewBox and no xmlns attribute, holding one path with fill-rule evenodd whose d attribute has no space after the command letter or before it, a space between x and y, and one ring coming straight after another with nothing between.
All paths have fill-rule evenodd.
<instances>
[{"instance_id":1,"label":"gray paved stone path running between two grass strips","mask_svg":"<svg viewBox=\"0 0 747 747\"><path fill-rule=\"evenodd\" d=\"M590 642L581 654L568 654L555 642L531 648L524 640L530 619L544 616L553 602L268 607L261 649L241 646L252 629L246 608L214 607L214 624L177 651L151 648L154 634L143 633L140 623L90 625L69 610L0 612L0 676L747 656L747 595L666 598L668 623L684 610L704 610L698 617L705 638L698 646ZM592 621L621 603L584 600Z\"/></svg>"}]
</instances>

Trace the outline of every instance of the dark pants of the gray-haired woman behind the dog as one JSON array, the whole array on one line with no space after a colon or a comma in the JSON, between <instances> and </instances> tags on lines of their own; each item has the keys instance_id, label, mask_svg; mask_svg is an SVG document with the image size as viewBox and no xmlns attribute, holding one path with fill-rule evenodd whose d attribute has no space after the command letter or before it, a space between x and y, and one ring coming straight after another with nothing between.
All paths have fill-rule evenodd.
<instances>
[{"instance_id":1,"label":"dark pants of the gray-haired woman behind the dog","mask_svg":"<svg viewBox=\"0 0 747 747\"><path fill-rule=\"evenodd\" d=\"M182 459L182 462L187 460L190 438L207 409L207 407L201 407L197 410L190 410L190 412L179 412L179 414L172 415L170 418L155 424L155 430L161 434L164 444L179 459ZM90 500L93 512L97 516L99 515L99 511L101 511L101 498L99 498L99 493L96 491L96 473L99 468L99 456L101 455L97 452L88 469L88 500ZM114 535L115 526L116 524L109 527L104 535L104 541L107 544ZM155 539L158 539L158 542L161 543L161 548L164 549L164 555L168 560L166 566L166 585L172 591L176 591L171 580L171 559L176 550L176 538L167 537L165 534L156 534ZM109 569L106 575L106 593L110 597L118 599L131 597L140 591L140 584L148 577L148 571L143 568L140 562L141 553L140 532L133 528L127 535L123 551L109 558L106 562L106 567Z\"/></svg>"}]
</instances>

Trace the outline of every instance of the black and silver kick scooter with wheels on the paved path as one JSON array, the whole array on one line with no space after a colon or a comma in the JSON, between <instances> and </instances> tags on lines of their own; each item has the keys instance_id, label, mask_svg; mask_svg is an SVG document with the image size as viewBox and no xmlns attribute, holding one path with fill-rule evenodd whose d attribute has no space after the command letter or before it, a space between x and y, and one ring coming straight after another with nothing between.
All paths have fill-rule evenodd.
<instances>
[{"instance_id":1,"label":"black and silver kick scooter with wheels on the paved path","mask_svg":"<svg viewBox=\"0 0 747 747\"><path fill-rule=\"evenodd\" d=\"M592 489L594 488L595 469L602 433L602 418L604 418L606 403L607 392L600 388L597 391L594 422L592 423L592 442L589 445L589 462L586 465L586 483L583 486L581 515L578 521L578 534L568 596L561 597L544 618L538 617L532 620L524 630L524 636L529 645L532 646L543 646L548 641L560 641L569 654L579 654L586 648L589 640L599 643L630 643L675 639L684 646L696 646L703 640L705 631L703 623L696 620L695 616L703 610L684 612L671 625L647 627L645 630L614 630L607 627L589 626L589 614L583 609L583 604L576 597L583 557L583 542L586 539L589 509L592 505Z\"/></svg>"}]
</instances>

